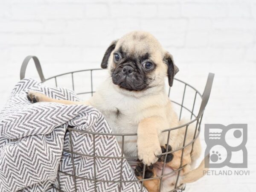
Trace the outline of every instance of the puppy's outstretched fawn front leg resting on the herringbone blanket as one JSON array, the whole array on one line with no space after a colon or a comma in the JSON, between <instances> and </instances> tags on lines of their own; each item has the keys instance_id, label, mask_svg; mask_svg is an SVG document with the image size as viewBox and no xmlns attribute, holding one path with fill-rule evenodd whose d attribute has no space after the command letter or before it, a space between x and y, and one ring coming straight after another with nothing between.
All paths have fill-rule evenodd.
<instances>
[{"instance_id":1,"label":"puppy's outstretched fawn front leg resting on the herringbone blanket","mask_svg":"<svg viewBox=\"0 0 256 192\"><path fill-rule=\"evenodd\" d=\"M69 100L64 100L64 99L52 99L49 98L48 96L38 93L36 91L29 91L27 98L30 102L36 103L36 102L56 102L56 103L62 103L66 105L89 105L88 102L73 102Z\"/></svg>"}]
</instances>

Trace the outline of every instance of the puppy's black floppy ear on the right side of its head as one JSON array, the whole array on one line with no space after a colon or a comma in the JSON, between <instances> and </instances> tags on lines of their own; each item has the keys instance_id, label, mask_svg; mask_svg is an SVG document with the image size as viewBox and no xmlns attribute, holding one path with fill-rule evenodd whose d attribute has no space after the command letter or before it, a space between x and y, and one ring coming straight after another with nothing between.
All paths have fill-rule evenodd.
<instances>
[{"instance_id":1,"label":"puppy's black floppy ear on the right side of its head","mask_svg":"<svg viewBox=\"0 0 256 192\"><path fill-rule=\"evenodd\" d=\"M178 73L179 68L174 64L172 55L169 52L166 52L163 61L167 64L167 75L169 80L169 86L172 87L173 79L176 73Z\"/></svg>"}]
</instances>

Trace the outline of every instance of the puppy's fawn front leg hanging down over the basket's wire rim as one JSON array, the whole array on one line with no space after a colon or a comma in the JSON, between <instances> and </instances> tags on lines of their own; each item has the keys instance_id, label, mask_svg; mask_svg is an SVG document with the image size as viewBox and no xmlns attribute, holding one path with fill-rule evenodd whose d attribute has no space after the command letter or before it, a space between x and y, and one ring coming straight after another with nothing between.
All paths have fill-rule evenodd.
<instances>
[{"instance_id":1,"label":"puppy's fawn front leg hanging down over the basket's wire rim","mask_svg":"<svg viewBox=\"0 0 256 192\"><path fill-rule=\"evenodd\" d=\"M151 165L162 153L158 134L163 126L163 119L158 116L140 121L137 130L138 157L145 165Z\"/></svg>"}]
</instances>

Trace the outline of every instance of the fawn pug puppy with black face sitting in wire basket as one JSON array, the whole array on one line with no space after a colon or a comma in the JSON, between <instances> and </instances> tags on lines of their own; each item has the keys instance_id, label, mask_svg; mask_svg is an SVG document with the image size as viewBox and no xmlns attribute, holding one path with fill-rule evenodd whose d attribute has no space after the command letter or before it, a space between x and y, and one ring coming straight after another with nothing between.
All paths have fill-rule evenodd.
<instances>
[{"instance_id":1,"label":"fawn pug puppy with black face sitting in wire basket","mask_svg":"<svg viewBox=\"0 0 256 192\"><path fill-rule=\"evenodd\" d=\"M138 156L141 163L136 168L136 175L139 178L142 178L143 164L146 165L145 178L156 177L157 169L152 164L157 160L158 163L163 161L162 152L180 148L183 143L184 128L171 131L169 142L168 132L161 133L164 129L181 125L165 91L166 77L172 87L178 67L172 55L163 49L157 39L142 31L130 32L113 41L105 52L101 67L108 69L109 76L87 102L52 99L34 91L29 91L28 99L32 102L90 105L98 109L113 133L137 133L137 136L124 138L124 154L127 157ZM194 135L195 128L191 130L188 131L190 136ZM122 143L122 138L117 137L117 140ZM186 165L186 169L183 168L181 175L191 171L190 165L198 158L200 146L197 140L196 150L192 153L191 148L184 149L182 164ZM178 169L181 151L167 156L166 166ZM190 175L191 180L202 176L201 173ZM165 182L168 183L168 180ZM145 181L144 185L150 192L157 192L159 183L159 179L152 179ZM168 184L163 186L170 190Z\"/></svg>"}]
</instances>

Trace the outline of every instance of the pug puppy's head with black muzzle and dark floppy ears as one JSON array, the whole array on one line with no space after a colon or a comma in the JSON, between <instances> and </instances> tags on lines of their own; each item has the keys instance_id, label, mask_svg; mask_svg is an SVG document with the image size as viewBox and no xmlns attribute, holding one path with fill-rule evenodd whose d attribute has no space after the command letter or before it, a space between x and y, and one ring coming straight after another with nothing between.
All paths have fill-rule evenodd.
<instances>
[{"instance_id":1,"label":"pug puppy's head with black muzzle and dark floppy ears","mask_svg":"<svg viewBox=\"0 0 256 192\"><path fill-rule=\"evenodd\" d=\"M172 86L178 68L172 55L163 50L153 35L135 31L113 41L102 59L113 84L126 91L143 91L164 84L166 76Z\"/></svg>"}]
</instances>

